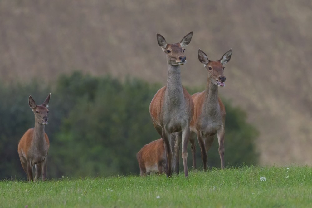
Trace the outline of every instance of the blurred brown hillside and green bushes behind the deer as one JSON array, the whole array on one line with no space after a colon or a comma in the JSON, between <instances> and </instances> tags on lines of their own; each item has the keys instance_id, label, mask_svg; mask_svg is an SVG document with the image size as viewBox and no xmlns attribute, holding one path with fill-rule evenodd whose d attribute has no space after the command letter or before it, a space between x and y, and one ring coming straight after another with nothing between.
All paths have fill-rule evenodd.
<instances>
[{"instance_id":1,"label":"blurred brown hillside and green bushes behind the deer","mask_svg":"<svg viewBox=\"0 0 312 208\"><path fill-rule=\"evenodd\" d=\"M232 48L219 89L227 166L311 165L311 22L309 0L0 1L0 178L26 178L28 96L50 92L48 177L139 174L135 154L159 138L149 103L167 80L157 32L177 43L194 31L181 66L190 94L207 82L198 48L210 60Z\"/></svg>"}]
</instances>

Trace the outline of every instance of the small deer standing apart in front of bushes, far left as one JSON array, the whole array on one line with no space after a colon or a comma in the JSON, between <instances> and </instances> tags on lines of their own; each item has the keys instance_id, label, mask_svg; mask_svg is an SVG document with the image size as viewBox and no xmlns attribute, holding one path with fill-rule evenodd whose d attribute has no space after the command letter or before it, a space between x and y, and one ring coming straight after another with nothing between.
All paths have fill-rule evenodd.
<instances>
[{"instance_id":1,"label":"small deer standing apart in front of bushes, far left","mask_svg":"<svg viewBox=\"0 0 312 208\"><path fill-rule=\"evenodd\" d=\"M27 174L27 181L33 180L33 166L35 166L35 178L41 175L42 181L46 180L47 155L50 142L44 127L48 124L47 109L50 101L51 93L41 105L36 105L32 96L29 96L28 104L35 114L35 127L28 129L18 143L17 152L20 157L22 167Z\"/></svg>"}]
</instances>

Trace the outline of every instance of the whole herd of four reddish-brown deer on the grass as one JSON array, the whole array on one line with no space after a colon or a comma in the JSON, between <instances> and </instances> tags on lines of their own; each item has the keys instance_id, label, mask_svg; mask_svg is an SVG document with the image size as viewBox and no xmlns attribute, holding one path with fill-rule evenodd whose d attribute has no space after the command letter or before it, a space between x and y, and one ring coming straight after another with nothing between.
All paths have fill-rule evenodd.
<instances>
[{"instance_id":1,"label":"whole herd of four reddish-brown deer on the grass","mask_svg":"<svg viewBox=\"0 0 312 208\"><path fill-rule=\"evenodd\" d=\"M208 72L206 90L192 96L182 86L180 65L186 63L185 47L189 45L193 31L182 38L179 43L169 44L157 33L158 45L167 57L167 85L159 89L149 106L149 113L154 128L160 139L152 141L137 153L140 175L165 173L171 177L172 172L179 173L179 150L182 143L182 159L184 175L188 177L188 142L191 143L193 167L196 168L195 134L202 153L204 170L207 170L207 151L214 136L217 135L221 168L224 169L224 123L225 108L218 97L218 87L224 87L226 77L223 75L224 65L231 59L232 49L219 60L209 60L207 55L198 49L198 59ZM22 167L27 174L27 181L37 181L42 172L42 180L46 179L47 154L49 139L44 131L48 123L47 109L51 94L41 105L36 105L32 96L28 102L35 115L35 127L28 129L18 143L18 154ZM33 178L33 167L35 177Z\"/></svg>"}]
</instances>

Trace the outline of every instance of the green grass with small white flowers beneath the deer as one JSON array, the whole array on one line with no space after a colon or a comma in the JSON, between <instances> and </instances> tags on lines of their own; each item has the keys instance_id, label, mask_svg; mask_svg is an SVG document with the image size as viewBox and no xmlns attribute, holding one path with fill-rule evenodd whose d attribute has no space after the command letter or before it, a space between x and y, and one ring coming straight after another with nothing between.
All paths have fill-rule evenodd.
<instances>
[{"instance_id":1,"label":"green grass with small white flowers beneath the deer","mask_svg":"<svg viewBox=\"0 0 312 208\"><path fill-rule=\"evenodd\" d=\"M260 181L260 177L266 181ZM159 197L158 197L159 196ZM312 207L312 169L240 167L173 175L0 181L0 207Z\"/></svg>"}]
</instances>

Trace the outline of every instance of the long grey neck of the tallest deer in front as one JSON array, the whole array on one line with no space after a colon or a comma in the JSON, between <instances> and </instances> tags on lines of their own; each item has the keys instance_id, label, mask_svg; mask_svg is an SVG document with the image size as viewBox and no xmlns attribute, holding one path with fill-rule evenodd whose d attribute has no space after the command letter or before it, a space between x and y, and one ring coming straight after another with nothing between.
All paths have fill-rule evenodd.
<instances>
[{"instance_id":1,"label":"long grey neck of the tallest deer in front","mask_svg":"<svg viewBox=\"0 0 312 208\"><path fill-rule=\"evenodd\" d=\"M171 104L179 104L183 99L183 88L180 74L179 65L168 65L166 101Z\"/></svg>"}]
</instances>

